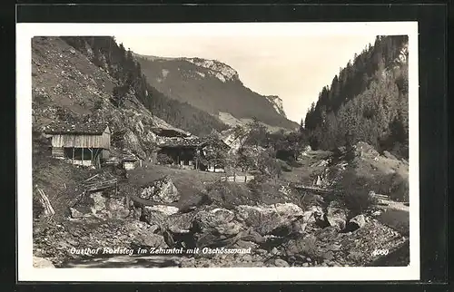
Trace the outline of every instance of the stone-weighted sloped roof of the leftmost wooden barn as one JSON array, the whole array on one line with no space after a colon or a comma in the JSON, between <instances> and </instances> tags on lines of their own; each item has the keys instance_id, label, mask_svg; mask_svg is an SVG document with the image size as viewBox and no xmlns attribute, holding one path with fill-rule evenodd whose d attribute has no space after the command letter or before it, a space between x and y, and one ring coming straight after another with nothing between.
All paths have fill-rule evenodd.
<instances>
[{"instance_id":1,"label":"stone-weighted sloped roof of the leftmost wooden barn","mask_svg":"<svg viewBox=\"0 0 454 292\"><path fill-rule=\"evenodd\" d=\"M53 122L44 126L44 132L48 134L86 134L101 135L106 123L97 122Z\"/></svg>"}]
</instances>

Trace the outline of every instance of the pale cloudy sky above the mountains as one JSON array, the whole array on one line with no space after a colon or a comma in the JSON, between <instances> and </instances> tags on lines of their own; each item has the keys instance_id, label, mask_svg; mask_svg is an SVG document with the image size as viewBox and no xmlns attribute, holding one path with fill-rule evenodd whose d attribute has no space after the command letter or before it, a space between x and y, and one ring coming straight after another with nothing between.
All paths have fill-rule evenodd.
<instances>
[{"instance_id":1,"label":"pale cloudy sky above the mountains","mask_svg":"<svg viewBox=\"0 0 454 292\"><path fill-rule=\"evenodd\" d=\"M375 34L120 34L115 39L136 54L227 63L252 91L281 97L287 118L301 122L321 88L373 44Z\"/></svg>"}]
</instances>

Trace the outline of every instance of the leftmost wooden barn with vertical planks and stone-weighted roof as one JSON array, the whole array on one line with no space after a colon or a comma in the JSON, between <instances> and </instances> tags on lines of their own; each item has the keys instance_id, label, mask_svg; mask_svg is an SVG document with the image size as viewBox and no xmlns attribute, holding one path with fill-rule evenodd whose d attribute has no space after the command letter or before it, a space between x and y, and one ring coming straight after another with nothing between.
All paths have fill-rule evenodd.
<instances>
[{"instance_id":1,"label":"leftmost wooden barn with vertical planks and stone-weighted roof","mask_svg":"<svg viewBox=\"0 0 454 292\"><path fill-rule=\"evenodd\" d=\"M52 156L96 167L109 159L111 131L105 123L54 122L44 128L52 139Z\"/></svg>"}]
</instances>

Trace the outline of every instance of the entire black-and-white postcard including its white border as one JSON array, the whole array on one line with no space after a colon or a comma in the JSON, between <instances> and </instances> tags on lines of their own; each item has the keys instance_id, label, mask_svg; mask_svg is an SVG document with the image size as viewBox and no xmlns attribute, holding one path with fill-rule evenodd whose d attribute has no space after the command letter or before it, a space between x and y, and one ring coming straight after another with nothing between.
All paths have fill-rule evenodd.
<instances>
[{"instance_id":1,"label":"entire black-and-white postcard including its white border","mask_svg":"<svg viewBox=\"0 0 454 292\"><path fill-rule=\"evenodd\" d=\"M17 32L19 278L419 277L417 24Z\"/></svg>"}]
</instances>

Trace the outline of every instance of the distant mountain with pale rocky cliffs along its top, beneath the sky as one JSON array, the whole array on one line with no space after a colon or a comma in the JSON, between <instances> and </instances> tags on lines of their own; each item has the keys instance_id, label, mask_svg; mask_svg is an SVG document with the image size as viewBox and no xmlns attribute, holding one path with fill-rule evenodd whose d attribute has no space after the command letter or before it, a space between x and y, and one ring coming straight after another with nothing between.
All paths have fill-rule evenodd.
<instances>
[{"instance_id":1,"label":"distant mountain with pale rocky cliffs along its top, beneath the sky","mask_svg":"<svg viewBox=\"0 0 454 292\"><path fill-rule=\"evenodd\" d=\"M135 57L148 82L172 99L216 117L228 112L238 120L255 117L273 127L298 127L285 117L279 97L252 92L228 64L202 58Z\"/></svg>"}]
</instances>

